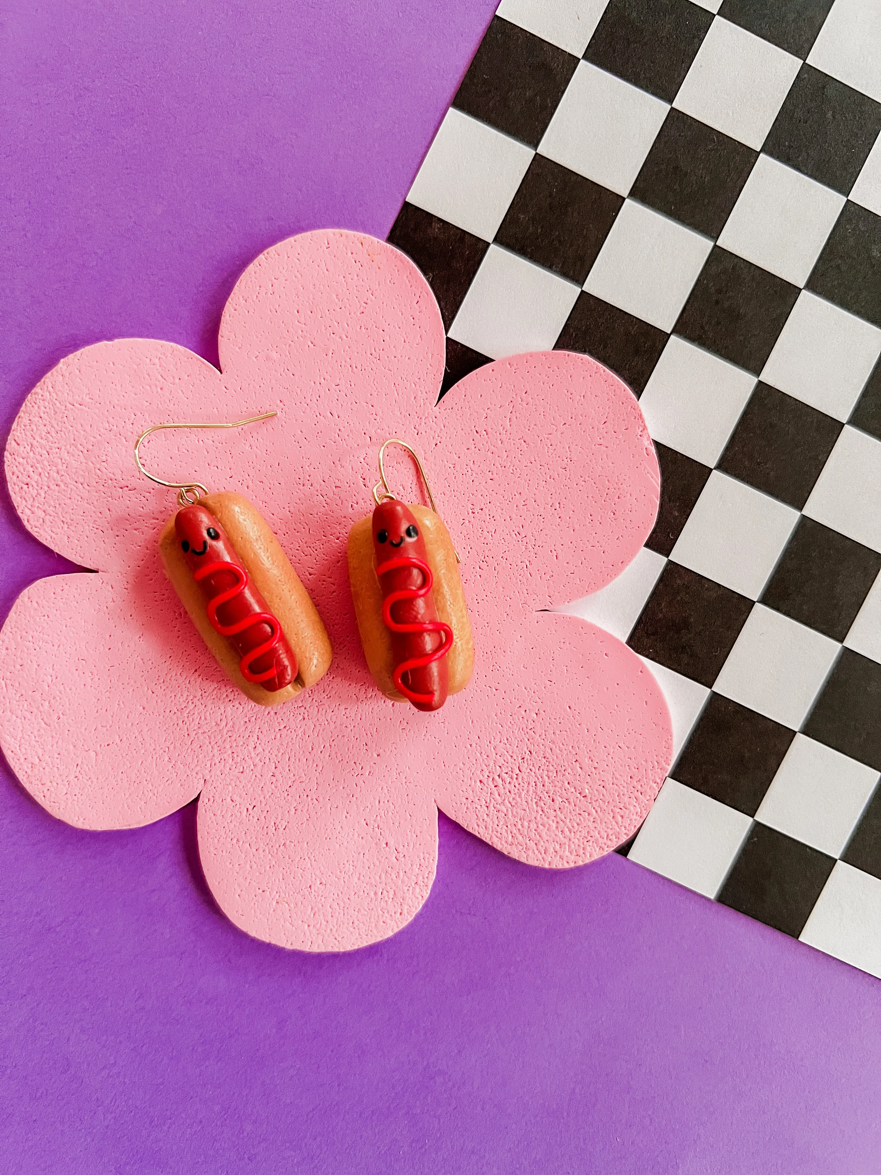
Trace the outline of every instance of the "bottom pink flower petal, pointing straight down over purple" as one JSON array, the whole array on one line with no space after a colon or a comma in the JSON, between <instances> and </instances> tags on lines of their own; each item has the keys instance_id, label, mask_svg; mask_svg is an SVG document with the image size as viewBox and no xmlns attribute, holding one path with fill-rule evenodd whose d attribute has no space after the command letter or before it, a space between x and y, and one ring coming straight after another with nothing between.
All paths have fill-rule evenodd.
<instances>
[{"instance_id":1,"label":"bottom pink flower petal, pointing straight down over purple","mask_svg":"<svg viewBox=\"0 0 881 1175\"><path fill-rule=\"evenodd\" d=\"M428 898L437 808L402 770L403 707L377 703L365 682L357 700L328 678L310 694L309 707L288 707L284 737L261 739L240 773L206 788L199 852L243 931L301 951L351 951L401 929Z\"/></svg>"}]
</instances>

